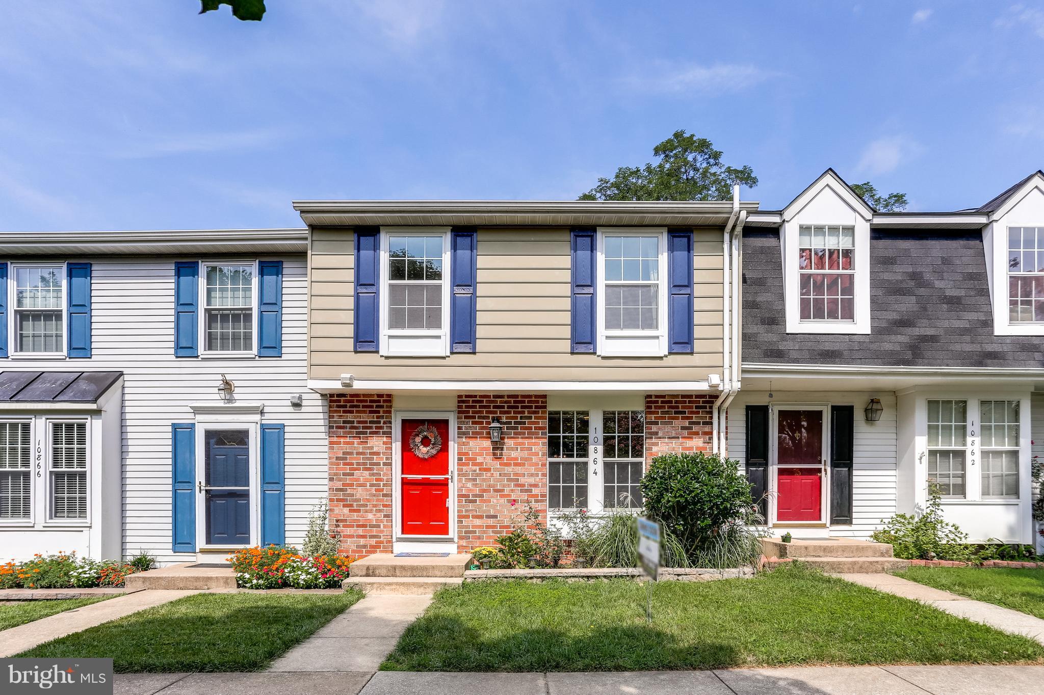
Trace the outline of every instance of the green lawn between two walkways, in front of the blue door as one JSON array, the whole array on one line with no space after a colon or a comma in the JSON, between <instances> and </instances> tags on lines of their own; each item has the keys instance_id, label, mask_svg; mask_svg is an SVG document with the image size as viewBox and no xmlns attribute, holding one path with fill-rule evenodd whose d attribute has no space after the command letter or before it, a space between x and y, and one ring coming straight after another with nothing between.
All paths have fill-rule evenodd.
<instances>
[{"instance_id":1,"label":"green lawn between two walkways, in front of the blue door","mask_svg":"<svg viewBox=\"0 0 1044 695\"><path fill-rule=\"evenodd\" d=\"M195 594L47 642L19 656L112 657L117 672L257 671L362 598Z\"/></svg>"}]
</instances>

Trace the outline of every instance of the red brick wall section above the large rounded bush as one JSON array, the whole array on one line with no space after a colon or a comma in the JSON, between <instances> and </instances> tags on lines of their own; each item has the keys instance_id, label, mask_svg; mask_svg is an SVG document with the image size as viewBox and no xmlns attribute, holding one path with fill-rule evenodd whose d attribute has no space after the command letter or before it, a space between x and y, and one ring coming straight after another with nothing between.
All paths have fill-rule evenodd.
<instances>
[{"instance_id":1,"label":"red brick wall section above the large rounded bush","mask_svg":"<svg viewBox=\"0 0 1044 695\"><path fill-rule=\"evenodd\" d=\"M716 395L645 396L645 465L661 453L713 451L711 415Z\"/></svg>"}]
</instances>

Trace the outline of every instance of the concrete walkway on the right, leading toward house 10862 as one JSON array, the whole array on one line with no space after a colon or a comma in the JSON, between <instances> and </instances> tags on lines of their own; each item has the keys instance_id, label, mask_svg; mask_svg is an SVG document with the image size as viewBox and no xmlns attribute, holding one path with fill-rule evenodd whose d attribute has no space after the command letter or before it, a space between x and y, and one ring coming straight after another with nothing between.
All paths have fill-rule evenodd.
<instances>
[{"instance_id":1,"label":"concrete walkway on the right, leading toward house 10862","mask_svg":"<svg viewBox=\"0 0 1044 695\"><path fill-rule=\"evenodd\" d=\"M921 601L950 615L990 625L1012 635L1022 635L1044 644L1044 620L1019 611L976 601L891 574L838 574L837 576L886 594Z\"/></svg>"}]
</instances>

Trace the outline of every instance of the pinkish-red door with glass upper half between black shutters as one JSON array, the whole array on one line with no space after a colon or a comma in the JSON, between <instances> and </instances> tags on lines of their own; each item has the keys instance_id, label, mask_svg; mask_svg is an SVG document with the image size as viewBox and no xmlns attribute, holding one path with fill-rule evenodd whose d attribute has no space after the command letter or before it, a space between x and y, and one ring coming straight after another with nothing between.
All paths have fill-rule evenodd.
<instances>
[{"instance_id":1,"label":"pinkish-red door with glass upper half between black shutters","mask_svg":"<svg viewBox=\"0 0 1044 695\"><path fill-rule=\"evenodd\" d=\"M777 521L823 521L823 411L779 411Z\"/></svg>"}]
</instances>

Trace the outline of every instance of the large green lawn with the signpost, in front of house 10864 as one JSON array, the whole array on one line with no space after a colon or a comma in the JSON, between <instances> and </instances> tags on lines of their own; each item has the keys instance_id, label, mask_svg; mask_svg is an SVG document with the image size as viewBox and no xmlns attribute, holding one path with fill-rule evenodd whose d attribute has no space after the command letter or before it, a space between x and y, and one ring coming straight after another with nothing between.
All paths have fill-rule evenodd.
<instances>
[{"instance_id":1,"label":"large green lawn with the signpost, in front of house 10864","mask_svg":"<svg viewBox=\"0 0 1044 695\"><path fill-rule=\"evenodd\" d=\"M801 568L753 579L476 581L444 589L381 666L643 671L808 664L1041 663L1044 646Z\"/></svg>"}]
</instances>

